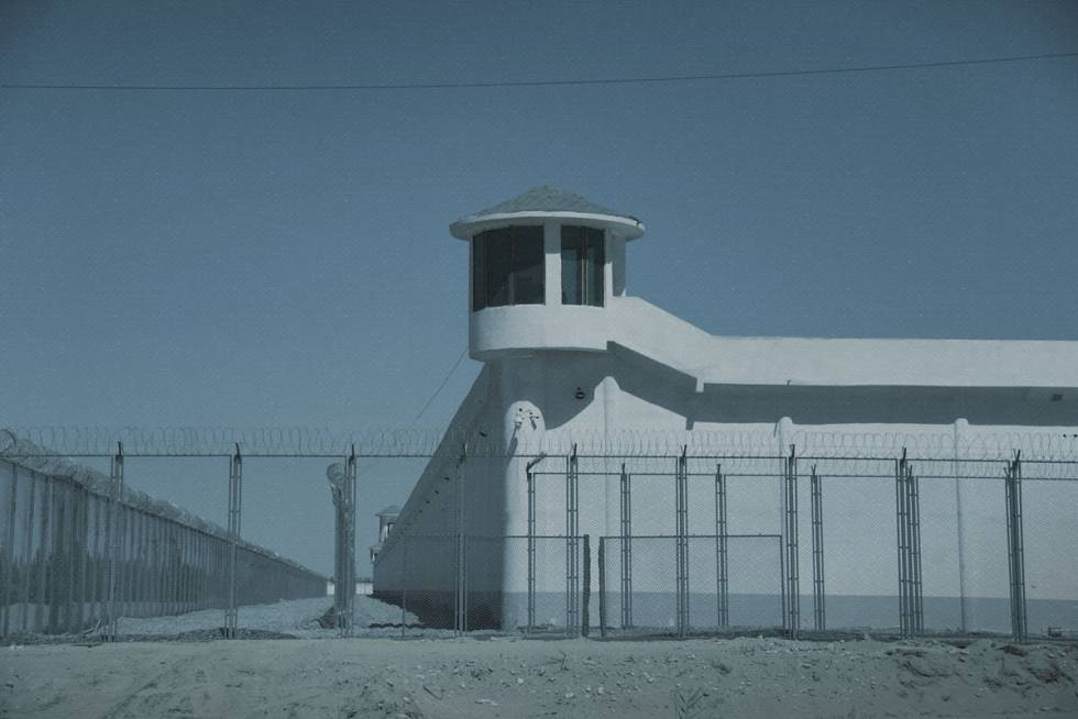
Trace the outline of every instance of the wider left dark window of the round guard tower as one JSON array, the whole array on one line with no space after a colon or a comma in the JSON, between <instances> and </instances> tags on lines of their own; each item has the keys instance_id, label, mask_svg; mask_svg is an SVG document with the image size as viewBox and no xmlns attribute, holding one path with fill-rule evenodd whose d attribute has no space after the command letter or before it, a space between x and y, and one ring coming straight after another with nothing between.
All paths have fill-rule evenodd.
<instances>
[{"instance_id":1,"label":"wider left dark window of the round guard tower","mask_svg":"<svg viewBox=\"0 0 1078 719\"><path fill-rule=\"evenodd\" d=\"M541 226L487 230L472 237L472 311L543 303Z\"/></svg>"}]
</instances>

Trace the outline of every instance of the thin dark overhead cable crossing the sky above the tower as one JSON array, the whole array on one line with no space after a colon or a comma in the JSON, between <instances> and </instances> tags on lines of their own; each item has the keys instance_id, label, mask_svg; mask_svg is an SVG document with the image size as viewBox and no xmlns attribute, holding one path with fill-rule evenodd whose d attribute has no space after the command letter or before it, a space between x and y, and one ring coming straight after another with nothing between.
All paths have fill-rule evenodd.
<instances>
[{"instance_id":1,"label":"thin dark overhead cable crossing the sky above the tower","mask_svg":"<svg viewBox=\"0 0 1078 719\"><path fill-rule=\"evenodd\" d=\"M754 73L705 73L700 75L656 75L650 77L596 77L582 79L549 80L491 80L469 82L386 82L364 85L82 85L51 82L0 82L3 90L118 90L118 91L326 91L326 90L447 90L514 87L582 87L595 85L647 85L662 82L695 82L702 80L737 80L771 77L805 77L812 75L842 75L851 73L878 73L882 70L915 70L938 67L960 67L998 63L1024 63L1030 60L1078 57L1076 53L1045 53L1009 57L982 57L933 63L901 63L893 65L860 65L855 67L825 67L801 70L761 70Z\"/></svg>"}]
</instances>

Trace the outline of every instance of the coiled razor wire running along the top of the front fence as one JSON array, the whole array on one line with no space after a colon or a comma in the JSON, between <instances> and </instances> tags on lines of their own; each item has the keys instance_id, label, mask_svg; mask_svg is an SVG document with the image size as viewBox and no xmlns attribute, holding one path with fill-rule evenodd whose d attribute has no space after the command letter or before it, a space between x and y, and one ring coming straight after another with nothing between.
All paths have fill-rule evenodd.
<instances>
[{"instance_id":1,"label":"coiled razor wire running along the top of the front fence","mask_svg":"<svg viewBox=\"0 0 1078 719\"><path fill-rule=\"evenodd\" d=\"M580 456L745 456L784 454L795 444L801 456L820 458L895 457L905 449L911 458L1007 461L1015 451L1040 461L1078 461L1075 428L996 430L955 424L932 429L842 431L792 424L788 433L778 425L734 429L662 430L656 428L560 428L509 435L481 427L466 429L329 429L314 427L26 427L0 431L0 455L19 441L36 445L32 458L109 457L122 444L128 456L231 456L242 447L245 456L327 457L358 456L430 457L447 446L468 446L471 456L562 455L573 445ZM938 428L938 429L936 429ZM29 446L29 445L26 445Z\"/></svg>"}]
</instances>

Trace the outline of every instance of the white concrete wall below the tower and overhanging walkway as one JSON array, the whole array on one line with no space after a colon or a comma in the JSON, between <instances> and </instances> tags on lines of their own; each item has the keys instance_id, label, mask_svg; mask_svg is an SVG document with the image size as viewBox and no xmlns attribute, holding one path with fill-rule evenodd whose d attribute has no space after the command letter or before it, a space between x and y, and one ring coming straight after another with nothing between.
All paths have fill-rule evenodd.
<instances>
[{"instance_id":1,"label":"white concrete wall below the tower and overhanging walkway","mask_svg":"<svg viewBox=\"0 0 1078 719\"><path fill-rule=\"evenodd\" d=\"M576 398L576 388L583 399ZM1026 456L1049 447L1054 452L1074 451L1078 443L1064 435L1078 435L1078 421L1059 427L991 425L1003 422L1015 410L1005 398L978 399L983 391L976 388L956 389L941 397L925 396L917 399L913 409L933 417L952 408L968 405L979 414L981 424L968 427L956 423L959 416L950 414L950 423L933 422L821 422L831 418L834 406L845 408L850 416L887 419L892 414L890 395L865 395L860 388L833 388L833 401L825 403L814 414L811 401L793 405L800 409L794 422L780 423L791 400L782 387L738 388L736 405L752 408L757 420L766 421L712 421L730 410L726 403L730 395L722 388L705 387L695 390L695 384L661 365L640 363L637 357L607 353L541 353L492 363L470 395L468 407L473 407L454 424L454 430L469 427L487 433L496 432L499 442L512 454L510 458L473 458L465 464L468 495L465 497L470 531L480 535L527 533L527 493L525 463L539 452L563 454L572 441L581 444L582 454L601 454L605 446L610 454L646 453L647 443L653 442L657 454L674 454L682 442L690 445L690 454L738 453L785 454L788 445L798 445L801 455L817 452L821 455L897 456L903 446L911 455L950 460L925 466L922 474L954 475L956 472L974 475L980 465L966 462L969 456L1007 456L1011 446L1024 449ZM916 392L914 392L915 395ZM890 397L890 399L888 399ZM462 408L462 412L463 412ZM902 409L905 416L911 408ZM735 412L737 413L737 412ZM693 418L696 418L693 420ZM466 420L466 421L465 421ZM692 429L686 429L692 427ZM1025 446L1022 446L1022 445ZM1049 446L1050 445L1050 446ZM848 450L848 452L847 452ZM999 453L1002 452L1002 455ZM956 460L961 461L956 464ZM585 457L580 461L580 531L592 535L597 543L602 535L619 533L619 479L620 460ZM674 495L672 476L673 460L627 458L628 469L634 473L634 534L674 533ZM714 462L693 460L691 472L713 473ZM880 479L856 477L827 477L825 493L825 535L828 543L828 590L844 595L879 595L893 591L897 585L894 558L894 483L888 473L893 465L888 462L839 463L821 461L821 474L853 472L886 475ZM433 469L433 467L439 467ZM537 533L564 534L563 457L551 457L538 465L537 479ZM992 471L1002 476L1001 464ZM436 475L451 474L454 461L447 455L432 462L416 493L402 515L402 526L413 534L440 533L451 535L455 530L451 518L454 506L446 489L432 494L437 487L451 487L452 482L438 485ZM930 471L931 469L931 471ZM802 467L805 472L805 467ZM591 472L612 473L609 476L588 476ZM781 527L781 501L778 476L781 463L777 460L744 460L726 467L727 473L771 473L774 478L729 479L729 531L734 533L778 533ZM646 477L645 473L663 474ZM451 475L452 476L452 475ZM923 479L922 507L924 513L924 544L928 547L925 563L926 594L954 596L958 594L958 528L957 497L963 494L966 539L966 594L980 597L1005 596L1005 552L1001 551L1004 537L1002 521L1002 484L968 479ZM1032 483L1027 483L1027 487ZM1048 546L1049 542L1066 545L1057 558L1078 556L1072 531L1060 524L1069 515L1060 513L1054 504L1045 500L1070 491L1069 486L1042 483L1027 489L1027 502L1040 506L1037 520L1031 520L1027 535L1034 544ZM1036 493L1036 494L1034 494ZM811 590L811 553L809 528L809 480L802 476L801 495L801 576L804 593ZM1066 500L1067 497L1057 497ZM1078 499L1078 497L1074 498ZM430 505L427 501L430 500ZM1071 505L1072 506L1072 505ZM421 507L422 512L418 513ZM414 513L415 512L415 513ZM405 521L406 515L413 516ZM714 483L710 477L690 479L690 530L693 533L714 532ZM397 534L395 529L394 534ZM1059 537L1056 537L1056 535ZM1058 544L1062 542L1062 545ZM493 612L505 627L524 622L522 600L527 590L526 555L522 541L508 544L477 543L471 558L469 580L479 604L495 604ZM1075 544L1074 546L1070 546ZM564 584L563 544L540 541L540 563L537 572L538 590L561 591ZM593 552L597 546L593 547ZM1072 553L1070 552L1072 550ZM658 551L658 550L657 550ZM748 551L748 550L747 550ZM756 551L756 550L751 550ZM501 552L501 556L492 555ZM1047 552L1046 552L1047 553ZM375 567L375 584L381 587L394 566L393 552L383 553ZM452 573L447 569L447 551L419 553L411 562L428 562L424 586L431 593L452 593ZM658 555L663 556L660 552ZM1041 560L1031 557L1032 564ZM672 562L672 560L671 560ZM1042 563L1043 564L1043 563ZM1031 565L1032 566L1032 565ZM656 567L666 571L669 567ZM773 567L777 568L777 567ZM711 572L711 574L708 574ZM749 586L766 583L767 573L747 577ZM1032 589L1044 596L1078 596L1078 587L1066 580L1053 580L1050 573L1033 568L1034 575L1043 575L1042 585ZM658 576L658 575L657 575ZM1065 574L1078 577L1078 572ZM658 580L658 579L657 579ZM701 567L694 575L693 586L712 586L714 569ZM1074 582L1071 582L1072 584ZM597 591L597 576L593 591ZM486 593L486 594L483 594ZM492 598L490 593L501 595ZM1070 593L1068 595L1068 593ZM483 594L481 597L480 595ZM549 613L549 612L548 612ZM557 613L557 612L556 612ZM540 621L557 617L540 616Z\"/></svg>"}]
</instances>

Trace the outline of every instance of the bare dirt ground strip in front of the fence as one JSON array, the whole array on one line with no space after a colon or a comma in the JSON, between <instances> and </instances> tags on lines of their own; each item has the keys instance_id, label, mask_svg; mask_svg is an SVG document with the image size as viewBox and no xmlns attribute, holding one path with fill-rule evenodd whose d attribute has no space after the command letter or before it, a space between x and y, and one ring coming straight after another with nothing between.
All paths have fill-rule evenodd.
<instances>
[{"instance_id":1,"label":"bare dirt ground strip in front of the fence","mask_svg":"<svg viewBox=\"0 0 1078 719\"><path fill-rule=\"evenodd\" d=\"M255 640L8 646L0 716L1078 716L1078 645Z\"/></svg>"}]
</instances>

